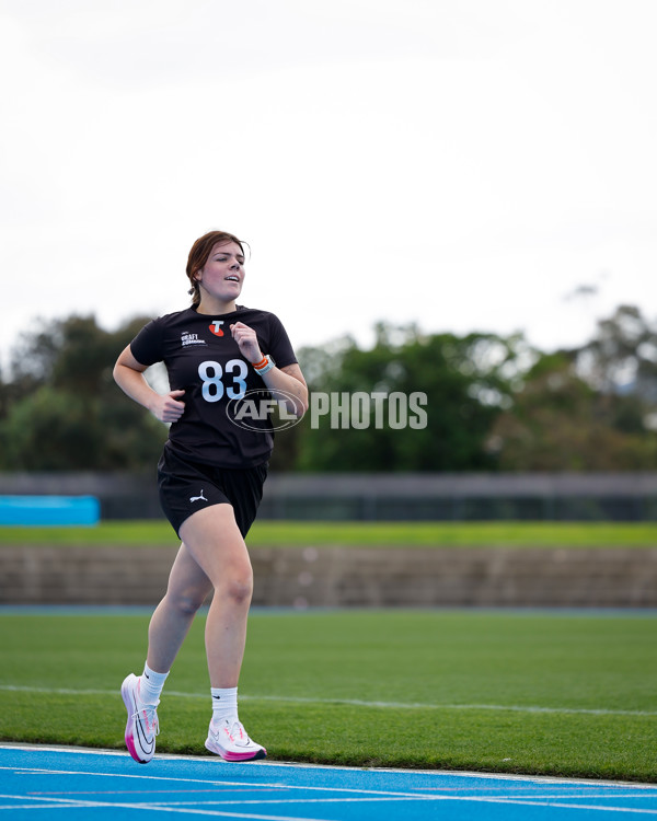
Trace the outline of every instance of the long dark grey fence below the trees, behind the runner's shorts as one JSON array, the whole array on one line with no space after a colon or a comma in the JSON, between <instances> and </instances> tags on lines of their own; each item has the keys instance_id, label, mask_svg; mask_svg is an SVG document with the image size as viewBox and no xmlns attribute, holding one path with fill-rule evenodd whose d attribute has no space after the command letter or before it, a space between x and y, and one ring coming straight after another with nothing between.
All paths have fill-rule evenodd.
<instances>
[{"instance_id":1,"label":"long dark grey fence below the trees, behind the runner's shorts","mask_svg":"<svg viewBox=\"0 0 657 821\"><path fill-rule=\"evenodd\" d=\"M0 474L0 495L94 495L103 519L161 519L152 474ZM260 519L657 521L657 473L272 474Z\"/></svg>"}]
</instances>

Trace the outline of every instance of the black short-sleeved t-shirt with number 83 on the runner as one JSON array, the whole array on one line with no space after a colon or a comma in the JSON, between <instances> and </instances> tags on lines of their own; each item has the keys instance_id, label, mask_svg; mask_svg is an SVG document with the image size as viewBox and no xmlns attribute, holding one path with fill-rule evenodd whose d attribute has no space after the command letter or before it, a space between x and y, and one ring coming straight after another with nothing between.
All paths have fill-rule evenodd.
<instances>
[{"instance_id":1,"label":"black short-sleeved t-shirt with number 83 on the runner","mask_svg":"<svg viewBox=\"0 0 657 821\"><path fill-rule=\"evenodd\" d=\"M252 467L269 459L274 446L266 414L250 419L245 429L235 421L240 400L260 390L268 397L262 377L244 359L230 325L252 327L263 354L278 368L297 361L280 320L268 311L238 305L232 313L214 316L194 309L170 313L149 322L130 343L141 365L163 361L172 391L183 390L185 412L171 425L168 447L178 455L218 467ZM250 394L256 396L256 394Z\"/></svg>"}]
</instances>

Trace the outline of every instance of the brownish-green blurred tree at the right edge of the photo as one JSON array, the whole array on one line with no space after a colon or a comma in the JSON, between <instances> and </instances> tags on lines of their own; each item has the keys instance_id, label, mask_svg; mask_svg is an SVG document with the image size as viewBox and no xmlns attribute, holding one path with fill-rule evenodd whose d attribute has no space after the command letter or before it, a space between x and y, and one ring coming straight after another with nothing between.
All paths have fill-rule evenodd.
<instances>
[{"instance_id":1,"label":"brownish-green blurred tree at the right edge of the photo","mask_svg":"<svg viewBox=\"0 0 657 821\"><path fill-rule=\"evenodd\" d=\"M506 471L657 467L657 332L632 307L581 348L541 355L488 447Z\"/></svg>"}]
</instances>

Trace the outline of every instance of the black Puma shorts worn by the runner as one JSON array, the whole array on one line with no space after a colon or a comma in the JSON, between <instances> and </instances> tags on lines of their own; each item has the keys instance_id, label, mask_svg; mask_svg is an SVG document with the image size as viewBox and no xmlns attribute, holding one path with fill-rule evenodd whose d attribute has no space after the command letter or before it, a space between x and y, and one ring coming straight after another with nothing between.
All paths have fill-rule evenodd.
<instances>
[{"instance_id":1,"label":"black Puma shorts worn by the runner","mask_svg":"<svg viewBox=\"0 0 657 821\"><path fill-rule=\"evenodd\" d=\"M240 533L246 536L263 498L268 462L255 467L214 467L181 459L164 448L158 464L160 505L180 536L181 525L201 508L232 506Z\"/></svg>"}]
</instances>

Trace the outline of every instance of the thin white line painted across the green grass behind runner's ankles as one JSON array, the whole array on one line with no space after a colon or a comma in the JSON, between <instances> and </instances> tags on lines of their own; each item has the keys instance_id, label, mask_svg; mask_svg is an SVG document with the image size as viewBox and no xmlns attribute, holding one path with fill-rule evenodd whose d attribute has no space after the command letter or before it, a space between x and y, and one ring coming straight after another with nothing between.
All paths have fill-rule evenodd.
<instances>
[{"instance_id":1,"label":"thin white line painted across the green grass behind runner's ankles","mask_svg":"<svg viewBox=\"0 0 657 821\"><path fill-rule=\"evenodd\" d=\"M32 687L16 684L0 684L0 692L35 693L51 695L103 695L115 696L118 690L71 690L68 687ZM173 698L198 698L207 701L208 696L199 693L180 693L168 691L166 696ZM280 702L287 704L335 704L353 707L376 707L381 709L435 709L435 710L496 710L507 713L565 714L589 716L657 716L657 710L646 709L609 709L589 707L540 707L520 704L400 704L399 702L368 702L358 698L306 698L302 696L284 695L240 695L241 702Z\"/></svg>"}]
</instances>

